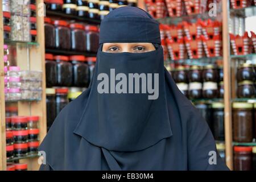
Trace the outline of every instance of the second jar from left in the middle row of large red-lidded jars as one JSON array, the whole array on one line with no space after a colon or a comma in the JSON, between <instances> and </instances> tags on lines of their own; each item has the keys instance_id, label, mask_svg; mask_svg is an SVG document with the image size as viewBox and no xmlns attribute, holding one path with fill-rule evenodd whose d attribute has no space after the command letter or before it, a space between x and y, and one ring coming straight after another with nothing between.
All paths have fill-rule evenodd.
<instances>
[{"instance_id":1,"label":"second jar from left in the middle row of large red-lidded jars","mask_svg":"<svg viewBox=\"0 0 256 182\"><path fill-rule=\"evenodd\" d=\"M72 64L69 63L68 56L54 56L57 62L57 85L72 85Z\"/></svg>"}]
</instances>

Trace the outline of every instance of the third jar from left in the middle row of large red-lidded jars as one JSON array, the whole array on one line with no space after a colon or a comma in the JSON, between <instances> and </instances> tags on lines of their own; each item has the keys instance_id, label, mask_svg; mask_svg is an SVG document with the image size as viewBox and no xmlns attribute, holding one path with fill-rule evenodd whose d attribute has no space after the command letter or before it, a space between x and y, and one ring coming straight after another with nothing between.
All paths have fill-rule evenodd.
<instances>
[{"instance_id":1,"label":"third jar from left in the middle row of large red-lidded jars","mask_svg":"<svg viewBox=\"0 0 256 182\"><path fill-rule=\"evenodd\" d=\"M89 86L89 67L85 63L85 56L70 56L69 60L73 66L73 86L88 87Z\"/></svg>"}]
</instances>

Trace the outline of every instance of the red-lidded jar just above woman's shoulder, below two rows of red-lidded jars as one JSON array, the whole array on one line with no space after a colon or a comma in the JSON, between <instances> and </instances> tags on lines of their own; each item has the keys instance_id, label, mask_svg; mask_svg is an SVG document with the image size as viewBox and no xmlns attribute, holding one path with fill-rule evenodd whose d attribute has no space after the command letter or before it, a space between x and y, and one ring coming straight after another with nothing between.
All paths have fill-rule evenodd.
<instances>
[{"instance_id":1,"label":"red-lidded jar just above woman's shoulder, below two rows of red-lidded jars","mask_svg":"<svg viewBox=\"0 0 256 182\"><path fill-rule=\"evenodd\" d=\"M59 88L55 90L56 92L56 115L60 113L60 111L68 105L68 89L67 88Z\"/></svg>"}]
</instances>

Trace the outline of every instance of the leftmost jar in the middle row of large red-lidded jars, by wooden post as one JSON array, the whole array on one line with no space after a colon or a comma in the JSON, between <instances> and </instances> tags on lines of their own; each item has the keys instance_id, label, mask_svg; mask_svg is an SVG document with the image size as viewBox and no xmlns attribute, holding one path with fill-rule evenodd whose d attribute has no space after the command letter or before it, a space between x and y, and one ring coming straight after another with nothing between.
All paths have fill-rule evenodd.
<instances>
[{"instance_id":1,"label":"leftmost jar in the middle row of large red-lidded jars, by wooden post","mask_svg":"<svg viewBox=\"0 0 256 182\"><path fill-rule=\"evenodd\" d=\"M46 53L46 86L57 85L57 62L53 59L53 55Z\"/></svg>"}]
</instances>

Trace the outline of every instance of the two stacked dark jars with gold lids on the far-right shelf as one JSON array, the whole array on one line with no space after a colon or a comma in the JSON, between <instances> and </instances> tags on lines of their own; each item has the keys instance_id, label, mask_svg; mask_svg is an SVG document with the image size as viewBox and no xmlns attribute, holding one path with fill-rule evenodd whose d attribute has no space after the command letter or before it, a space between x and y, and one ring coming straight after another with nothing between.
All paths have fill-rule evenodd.
<instances>
[{"instance_id":1,"label":"two stacked dark jars with gold lids on the far-right shelf","mask_svg":"<svg viewBox=\"0 0 256 182\"><path fill-rule=\"evenodd\" d=\"M256 67L250 63L243 63L237 69L237 97L255 98L256 97Z\"/></svg>"}]
</instances>

